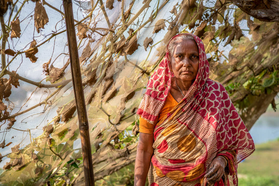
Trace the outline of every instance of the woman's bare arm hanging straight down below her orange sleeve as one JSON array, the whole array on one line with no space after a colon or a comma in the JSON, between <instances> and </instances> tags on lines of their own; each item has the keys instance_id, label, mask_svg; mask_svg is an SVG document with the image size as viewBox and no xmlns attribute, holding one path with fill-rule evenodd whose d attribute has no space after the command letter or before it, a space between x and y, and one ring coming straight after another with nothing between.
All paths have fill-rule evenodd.
<instances>
[{"instance_id":1,"label":"woman's bare arm hanging straight down below her orange sleeve","mask_svg":"<svg viewBox=\"0 0 279 186\"><path fill-rule=\"evenodd\" d=\"M134 186L145 185L146 176L150 167L151 156L154 152L152 147L153 142L153 134L140 132L135 163Z\"/></svg>"}]
</instances>

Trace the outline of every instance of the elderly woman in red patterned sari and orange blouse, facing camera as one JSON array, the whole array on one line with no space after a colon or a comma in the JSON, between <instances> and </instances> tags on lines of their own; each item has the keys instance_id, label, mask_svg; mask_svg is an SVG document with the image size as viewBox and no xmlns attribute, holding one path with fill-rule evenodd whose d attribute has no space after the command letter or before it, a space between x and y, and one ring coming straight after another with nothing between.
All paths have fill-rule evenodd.
<instances>
[{"instance_id":1,"label":"elderly woman in red patterned sari and orange blouse, facing camera","mask_svg":"<svg viewBox=\"0 0 279 186\"><path fill-rule=\"evenodd\" d=\"M236 186L237 163L254 142L222 84L208 78L203 42L174 36L137 114L134 185Z\"/></svg>"}]
</instances>

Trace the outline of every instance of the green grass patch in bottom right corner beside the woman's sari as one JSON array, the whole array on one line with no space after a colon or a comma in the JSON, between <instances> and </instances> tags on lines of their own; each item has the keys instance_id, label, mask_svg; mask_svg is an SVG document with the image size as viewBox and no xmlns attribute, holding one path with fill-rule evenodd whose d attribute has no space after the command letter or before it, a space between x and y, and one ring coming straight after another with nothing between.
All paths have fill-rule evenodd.
<instances>
[{"instance_id":1,"label":"green grass patch in bottom right corner beside the woman's sari","mask_svg":"<svg viewBox=\"0 0 279 186\"><path fill-rule=\"evenodd\" d=\"M239 186L279 185L279 140L256 145L251 156L239 163Z\"/></svg>"}]
</instances>

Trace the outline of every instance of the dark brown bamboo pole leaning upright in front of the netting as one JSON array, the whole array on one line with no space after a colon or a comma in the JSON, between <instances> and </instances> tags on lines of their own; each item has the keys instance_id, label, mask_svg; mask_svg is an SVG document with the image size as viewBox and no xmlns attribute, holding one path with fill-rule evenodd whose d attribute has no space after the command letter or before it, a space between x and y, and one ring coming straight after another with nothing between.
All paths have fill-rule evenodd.
<instances>
[{"instance_id":1,"label":"dark brown bamboo pole leaning upright in front of the netting","mask_svg":"<svg viewBox=\"0 0 279 186\"><path fill-rule=\"evenodd\" d=\"M90 138L88 131L88 119L86 114L85 99L80 72L80 62L78 58L78 46L76 42L76 33L74 29L73 4L71 0L63 0L65 11L65 21L67 38L69 45L69 54L71 62L71 72L73 79L74 97L76 100L76 109L78 113L78 122L80 128L81 148L83 156L84 178L86 186L94 186L94 174Z\"/></svg>"}]
</instances>

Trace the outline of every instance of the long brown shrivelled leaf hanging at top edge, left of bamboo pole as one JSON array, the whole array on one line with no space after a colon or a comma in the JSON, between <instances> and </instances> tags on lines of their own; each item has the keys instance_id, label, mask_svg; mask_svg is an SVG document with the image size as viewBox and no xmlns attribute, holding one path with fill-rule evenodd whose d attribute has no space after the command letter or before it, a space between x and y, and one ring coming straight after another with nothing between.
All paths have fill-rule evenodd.
<instances>
[{"instance_id":1,"label":"long brown shrivelled leaf hanging at top edge, left of bamboo pole","mask_svg":"<svg viewBox=\"0 0 279 186\"><path fill-rule=\"evenodd\" d=\"M36 1L34 22L38 33L40 33L40 28L44 28L45 24L49 22L47 12L40 1Z\"/></svg>"}]
</instances>

